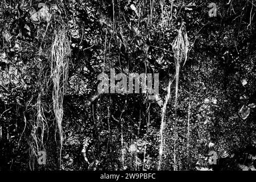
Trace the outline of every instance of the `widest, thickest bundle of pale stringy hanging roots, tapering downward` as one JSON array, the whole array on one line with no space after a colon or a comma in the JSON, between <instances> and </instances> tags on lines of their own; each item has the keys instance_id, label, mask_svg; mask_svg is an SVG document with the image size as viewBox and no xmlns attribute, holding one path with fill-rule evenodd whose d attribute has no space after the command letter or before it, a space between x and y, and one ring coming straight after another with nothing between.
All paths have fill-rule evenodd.
<instances>
[{"instance_id":1,"label":"widest, thickest bundle of pale stringy hanging roots, tapering downward","mask_svg":"<svg viewBox=\"0 0 256 182\"><path fill-rule=\"evenodd\" d=\"M63 133L61 122L63 118L63 96L65 92L65 84L68 79L68 63L71 49L65 28L56 31L55 39L52 43L51 50L51 78L53 82L52 101L53 111L57 123L57 130L60 136L60 167L61 167L61 151L63 145Z\"/></svg>"}]
</instances>

